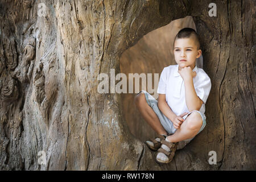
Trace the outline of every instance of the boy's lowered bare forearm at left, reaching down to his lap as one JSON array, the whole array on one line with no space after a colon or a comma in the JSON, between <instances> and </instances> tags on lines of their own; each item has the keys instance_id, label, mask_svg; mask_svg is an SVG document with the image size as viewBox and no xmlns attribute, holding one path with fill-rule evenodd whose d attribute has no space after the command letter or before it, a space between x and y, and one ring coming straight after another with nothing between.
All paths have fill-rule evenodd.
<instances>
[{"instance_id":1,"label":"boy's lowered bare forearm at left, reaching down to his lap","mask_svg":"<svg viewBox=\"0 0 256 182\"><path fill-rule=\"evenodd\" d=\"M169 118L171 121L174 121L174 118L177 116L170 106L166 102L166 94L159 94L158 97L158 107L159 110L162 111L162 113Z\"/></svg>"}]
</instances>

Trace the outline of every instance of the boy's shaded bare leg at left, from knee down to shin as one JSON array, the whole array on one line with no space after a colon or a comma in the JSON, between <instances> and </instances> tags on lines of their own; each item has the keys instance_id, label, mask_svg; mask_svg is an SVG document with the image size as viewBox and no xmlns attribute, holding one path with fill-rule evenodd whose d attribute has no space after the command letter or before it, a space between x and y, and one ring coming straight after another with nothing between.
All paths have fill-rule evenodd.
<instances>
[{"instance_id":1,"label":"boy's shaded bare leg at left, from knee down to shin","mask_svg":"<svg viewBox=\"0 0 256 182\"><path fill-rule=\"evenodd\" d=\"M137 96L135 96L134 101L143 119L148 123L148 125L150 125L156 133L167 135L167 131L164 130L158 116L155 114L154 110L147 104L144 93L141 92Z\"/></svg>"}]
</instances>

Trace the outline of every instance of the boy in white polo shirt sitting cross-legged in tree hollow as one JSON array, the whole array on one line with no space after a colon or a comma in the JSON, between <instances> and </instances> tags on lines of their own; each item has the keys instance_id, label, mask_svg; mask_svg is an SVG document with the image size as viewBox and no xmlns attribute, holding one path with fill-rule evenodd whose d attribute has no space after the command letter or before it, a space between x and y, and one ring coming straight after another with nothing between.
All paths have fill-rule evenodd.
<instances>
[{"instance_id":1,"label":"boy in white polo shirt sitting cross-legged in tree hollow","mask_svg":"<svg viewBox=\"0 0 256 182\"><path fill-rule=\"evenodd\" d=\"M201 56L197 33L183 28L174 39L174 56L177 65L165 67L160 75L158 101L141 90L135 104L145 121L158 133L146 141L151 150L158 150L156 161L169 163L177 144L187 144L206 125L205 102L211 82L203 69L197 68L196 58Z\"/></svg>"}]
</instances>

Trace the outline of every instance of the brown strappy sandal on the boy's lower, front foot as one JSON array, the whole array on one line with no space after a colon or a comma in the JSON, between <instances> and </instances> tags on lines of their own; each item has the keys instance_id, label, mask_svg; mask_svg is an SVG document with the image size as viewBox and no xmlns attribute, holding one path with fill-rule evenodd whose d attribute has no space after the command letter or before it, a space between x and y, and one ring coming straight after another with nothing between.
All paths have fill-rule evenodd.
<instances>
[{"instance_id":1,"label":"brown strappy sandal on the boy's lower, front foot","mask_svg":"<svg viewBox=\"0 0 256 182\"><path fill-rule=\"evenodd\" d=\"M165 154L167 156L168 160L164 161L164 160L160 160L160 159L155 158L156 162L158 162L158 163L170 163L172 161L172 159L174 159L175 151L177 150L177 143L178 142L173 143L173 142L167 142L166 140L161 140L161 144L164 144L167 147L169 147L170 152L168 152L168 151L164 150L162 147L160 147L158 149L158 154L160 152L162 152L163 154ZM156 157L158 156L158 154L156 154Z\"/></svg>"}]
</instances>

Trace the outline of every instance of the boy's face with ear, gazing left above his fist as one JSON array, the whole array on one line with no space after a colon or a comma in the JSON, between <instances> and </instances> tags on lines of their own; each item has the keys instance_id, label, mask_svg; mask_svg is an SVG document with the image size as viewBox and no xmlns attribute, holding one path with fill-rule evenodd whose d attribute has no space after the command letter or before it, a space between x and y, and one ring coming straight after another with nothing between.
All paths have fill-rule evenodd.
<instances>
[{"instance_id":1,"label":"boy's face with ear, gazing left above his fist","mask_svg":"<svg viewBox=\"0 0 256 182\"><path fill-rule=\"evenodd\" d=\"M195 68L196 58L200 57L201 50L197 50L197 46L193 38L176 39L174 43L174 57L180 68Z\"/></svg>"}]
</instances>

